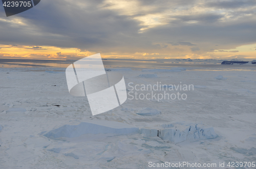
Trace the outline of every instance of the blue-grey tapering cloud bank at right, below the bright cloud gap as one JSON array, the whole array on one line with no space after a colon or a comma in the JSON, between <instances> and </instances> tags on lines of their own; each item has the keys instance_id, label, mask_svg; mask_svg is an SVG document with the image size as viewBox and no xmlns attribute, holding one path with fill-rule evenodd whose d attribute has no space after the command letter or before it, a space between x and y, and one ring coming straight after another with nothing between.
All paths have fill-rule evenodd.
<instances>
[{"instance_id":1,"label":"blue-grey tapering cloud bank at right, below the bright cloud gap","mask_svg":"<svg viewBox=\"0 0 256 169\"><path fill-rule=\"evenodd\" d=\"M148 30L145 35L151 36L156 41L169 41L169 39L186 39L197 42L199 46L219 44L219 46L243 45L256 42L256 18L240 18L235 21L220 23L179 23L175 26L164 25ZM199 46L199 47L200 47Z\"/></svg>"}]
</instances>

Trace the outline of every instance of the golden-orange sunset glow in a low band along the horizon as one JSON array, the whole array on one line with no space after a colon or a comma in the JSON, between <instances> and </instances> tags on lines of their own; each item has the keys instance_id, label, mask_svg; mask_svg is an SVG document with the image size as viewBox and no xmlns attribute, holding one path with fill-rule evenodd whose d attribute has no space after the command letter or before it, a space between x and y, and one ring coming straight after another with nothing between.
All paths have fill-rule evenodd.
<instances>
[{"instance_id":1,"label":"golden-orange sunset glow in a low band along the horizon","mask_svg":"<svg viewBox=\"0 0 256 169\"><path fill-rule=\"evenodd\" d=\"M243 45L234 49L216 49L207 53L191 53L190 47L173 47L171 53L164 53L161 50L148 50L145 52L136 52L133 54L102 53L103 58L119 59L255 59L256 44ZM22 45L0 45L0 55L2 58L30 58L30 59L81 59L95 54L92 51L81 51L78 48L59 48L55 46L22 46Z\"/></svg>"}]
</instances>

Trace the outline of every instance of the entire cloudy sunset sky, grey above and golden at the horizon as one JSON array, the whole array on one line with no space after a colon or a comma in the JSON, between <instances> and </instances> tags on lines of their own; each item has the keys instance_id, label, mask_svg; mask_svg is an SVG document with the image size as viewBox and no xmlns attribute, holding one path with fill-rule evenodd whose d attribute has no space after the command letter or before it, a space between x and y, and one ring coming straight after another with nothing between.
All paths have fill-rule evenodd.
<instances>
[{"instance_id":1,"label":"entire cloudy sunset sky, grey above and golden at the horizon","mask_svg":"<svg viewBox=\"0 0 256 169\"><path fill-rule=\"evenodd\" d=\"M256 60L256 1L41 0L6 17L0 58Z\"/></svg>"}]
</instances>

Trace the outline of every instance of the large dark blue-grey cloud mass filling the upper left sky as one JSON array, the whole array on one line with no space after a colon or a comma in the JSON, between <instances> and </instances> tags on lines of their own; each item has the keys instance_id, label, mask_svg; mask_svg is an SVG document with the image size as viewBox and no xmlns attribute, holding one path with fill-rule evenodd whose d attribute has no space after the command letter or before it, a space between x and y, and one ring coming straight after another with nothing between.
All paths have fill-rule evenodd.
<instances>
[{"instance_id":1,"label":"large dark blue-grey cloud mass filling the upper left sky","mask_svg":"<svg viewBox=\"0 0 256 169\"><path fill-rule=\"evenodd\" d=\"M13 27L13 23L8 20L6 22L1 20L1 43L15 42L23 45L97 50L108 50L108 48L113 50L113 47L120 46L123 47L121 50L128 50L129 47L154 48L146 37L138 34L141 28L138 21L110 10L98 9L97 5L101 1L78 2L86 6L78 8L72 5L73 2L61 0L54 3L42 1L37 8L15 16L22 17L26 21L27 25L21 25L19 28Z\"/></svg>"}]
</instances>

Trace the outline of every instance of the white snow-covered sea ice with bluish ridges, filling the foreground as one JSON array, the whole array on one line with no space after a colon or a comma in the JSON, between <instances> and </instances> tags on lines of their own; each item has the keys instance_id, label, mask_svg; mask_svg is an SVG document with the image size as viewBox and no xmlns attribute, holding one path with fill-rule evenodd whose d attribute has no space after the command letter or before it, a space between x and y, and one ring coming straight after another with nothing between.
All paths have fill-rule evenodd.
<instances>
[{"instance_id":1,"label":"white snow-covered sea ice with bluish ridges, filling the foreground","mask_svg":"<svg viewBox=\"0 0 256 169\"><path fill-rule=\"evenodd\" d=\"M1 169L256 162L255 71L118 68L127 93L157 82L167 86L138 94L163 94L181 84L194 90L178 91L185 100L128 96L121 106L92 116L86 97L69 94L64 70L0 69Z\"/></svg>"}]
</instances>

